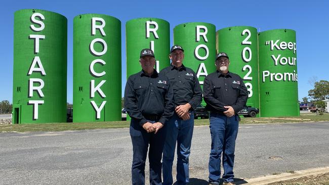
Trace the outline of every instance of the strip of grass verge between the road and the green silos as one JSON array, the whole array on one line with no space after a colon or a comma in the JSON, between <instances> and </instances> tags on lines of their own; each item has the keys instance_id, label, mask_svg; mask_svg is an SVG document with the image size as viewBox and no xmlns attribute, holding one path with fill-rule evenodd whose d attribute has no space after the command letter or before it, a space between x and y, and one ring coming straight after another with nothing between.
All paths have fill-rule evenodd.
<instances>
[{"instance_id":1,"label":"strip of grass verge between the road and the green silos","mask_svg":"<svg viewBox=\"0 0 329 185\"><path fill-rule=\"evenodd\" d=\"M329 121L329 114L301 114L296 117L276 118L241 118L240 124L257 123L290 123L290 122L315 122ZM129 127L129 121L106 121L87 123L44 123L44 124L4 124L0 125L0 132L33 132L33 131L63 131L84 130L101 128L124 128ZM194 125L209 125L209 119L195 119Z\"/></svg>"}]
</instances>

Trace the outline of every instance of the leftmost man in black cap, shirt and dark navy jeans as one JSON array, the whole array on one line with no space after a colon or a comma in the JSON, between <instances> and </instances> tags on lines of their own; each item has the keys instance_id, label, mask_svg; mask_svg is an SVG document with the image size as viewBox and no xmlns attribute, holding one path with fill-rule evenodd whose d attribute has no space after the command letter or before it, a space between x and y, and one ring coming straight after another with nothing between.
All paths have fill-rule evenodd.
<instances>
[{"instance_id":1,"label":"leftmost man in black cap, shirt and dark navy jeans","mask_svg":"<svg viewBox=\"0 0 329 185\"><path fill-rule=\"evenodd\" d=\"M154 69L152 50L143 49L139 61L142 71L128 78L125 89L125 108L132 118L132 184L145 184L145 161L150 146L150 184L158 185L162 184L161 157L166 137L162 127L174 112L173 89L168 77Z\"/></svg>"}]
</instances>

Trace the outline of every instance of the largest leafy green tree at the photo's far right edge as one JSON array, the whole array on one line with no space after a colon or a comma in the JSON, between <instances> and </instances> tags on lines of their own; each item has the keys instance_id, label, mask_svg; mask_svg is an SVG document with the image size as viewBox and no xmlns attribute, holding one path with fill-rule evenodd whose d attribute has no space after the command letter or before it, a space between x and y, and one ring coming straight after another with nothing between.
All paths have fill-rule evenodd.
<instances>
[{"instance_id":1,"label":"largest leafy green tree at the photo's far right edge","mask_svg":"<svg viewBox=\"0 0 329 185\"><path fill-rule=\"evenodd\" d=\"M314 82L314 89L308 91L308 96L316 101L329 99L329 81Z\"/></svg>"}]
</instances>

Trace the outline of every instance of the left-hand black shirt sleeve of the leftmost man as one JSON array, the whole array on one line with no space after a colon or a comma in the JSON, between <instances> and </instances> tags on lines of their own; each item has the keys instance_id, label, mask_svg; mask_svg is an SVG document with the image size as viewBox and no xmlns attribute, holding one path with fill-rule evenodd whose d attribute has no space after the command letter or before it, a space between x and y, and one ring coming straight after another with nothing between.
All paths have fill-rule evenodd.
<instances>
[{"instance_id":1,"label":"left-hand black shirt sleeve of the leftmost man","mask_svg":"<svg viewBox=\"0 0 329 185\"><path fill-rule=\"evenodd\" d=\"M128 78L125 88L125 108L130 117L139 120L139 125L143 126L147 122L137 107L137 98L131 77Z\"/></svg>"}]
</instances>

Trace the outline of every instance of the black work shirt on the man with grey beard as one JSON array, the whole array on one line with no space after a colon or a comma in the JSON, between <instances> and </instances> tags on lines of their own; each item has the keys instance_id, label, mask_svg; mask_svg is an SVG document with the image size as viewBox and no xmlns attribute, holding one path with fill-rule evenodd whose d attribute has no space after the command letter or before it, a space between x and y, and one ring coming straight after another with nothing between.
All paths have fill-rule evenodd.
<instances>
[{"instance_id":1,"label":"black work shirt on the man with grey beard","mask_svg":"<svg viewBox=\"0 0 329 185\"><path fill-rule=\"evenodd\" d=\"M203 98L209 111L223 113L227 110L224 106L231 106L237 113L245 106L248 91L239 75L216 71L203 81Z\"/></svg>"}]
</instances>

